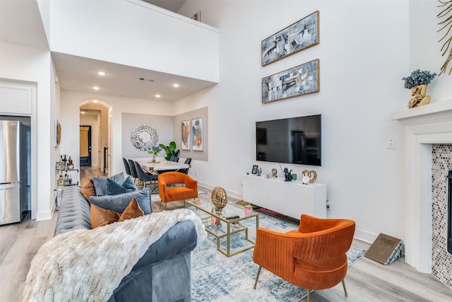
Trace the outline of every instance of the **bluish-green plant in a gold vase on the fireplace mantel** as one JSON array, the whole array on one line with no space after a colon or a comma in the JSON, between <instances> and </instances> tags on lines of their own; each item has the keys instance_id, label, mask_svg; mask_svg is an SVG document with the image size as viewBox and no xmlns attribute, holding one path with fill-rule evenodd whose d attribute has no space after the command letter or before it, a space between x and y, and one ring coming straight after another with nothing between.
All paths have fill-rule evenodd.
<instances>
[{"instance_id":1,"label":"bluish-green plant in a gold vase on the fireplace mantel","mask_svg":"<svg viewBox=\"0 0 452 302\"><path fill-rule=\"evenodd\" d=\"M416 69L412 71L410 76L404 76L402 79L404 87L411 89L412 98L408 102L408 108L414 108L421 105L427 105L430 103L430 95L427 94L427 85L432 82L435 73L431 73L428 70L420 71Z\"/></svg>"}]
</instances>

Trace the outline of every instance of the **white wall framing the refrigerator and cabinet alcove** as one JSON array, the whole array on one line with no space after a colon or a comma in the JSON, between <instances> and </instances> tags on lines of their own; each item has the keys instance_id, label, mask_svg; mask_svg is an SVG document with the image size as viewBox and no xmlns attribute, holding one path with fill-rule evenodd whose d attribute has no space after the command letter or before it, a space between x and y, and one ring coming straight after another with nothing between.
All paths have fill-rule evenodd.
<instances>
[{"instance_id":1,"label":"white wall framing the refrigerator and cabinet alcove","mask_svg":"<svg viewBox=\"0 0 452 302\"><path fill-rule=\"evenodd\" d=\"M1 41L0 78L37 86L32 105L32 218L50 219L55 181L54 118L57 117L58 85L48 50Z\"/></svg>"}]
</instances>

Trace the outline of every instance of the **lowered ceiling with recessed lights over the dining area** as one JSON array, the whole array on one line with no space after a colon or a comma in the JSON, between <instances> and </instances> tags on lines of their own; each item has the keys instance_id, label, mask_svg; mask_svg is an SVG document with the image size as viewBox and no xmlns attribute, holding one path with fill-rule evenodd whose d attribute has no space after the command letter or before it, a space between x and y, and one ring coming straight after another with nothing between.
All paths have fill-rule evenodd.
<instances>
[{"instance_id":1,"label":"lowered ceiling with recessed lights over the dining area","mask_svg":"<svg viewBox=\"0 0 452 302\"><path fill-rule=\"evenodd\" d=\"M52 52L52 58L59 86L64 91L174 102L215 84L58 52ZM99 76L98 71L105 71L106 75ZM174 83L178 83L179 87L174 88ZM95 91L93 86L100 89ZM161 97L156 98L157 94Z\"/></svg>"}]
</instances>

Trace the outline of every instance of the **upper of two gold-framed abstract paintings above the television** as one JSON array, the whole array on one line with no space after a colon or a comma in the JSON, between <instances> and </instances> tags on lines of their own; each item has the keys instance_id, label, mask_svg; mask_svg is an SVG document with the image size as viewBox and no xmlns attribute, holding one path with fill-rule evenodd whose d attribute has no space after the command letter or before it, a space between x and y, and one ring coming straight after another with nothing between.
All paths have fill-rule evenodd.
<instances>
[{"instance_id":1,"label":"upper of two gold-framed abstract paintings above the television","mask_svg":"<svg viewBox=\"0 0 452 302\"><path fill-rule=\"evenodd\" d=\"M262 66L319 44L319 11L287 26L261 42Z\"/></svg>"}]
</instances>

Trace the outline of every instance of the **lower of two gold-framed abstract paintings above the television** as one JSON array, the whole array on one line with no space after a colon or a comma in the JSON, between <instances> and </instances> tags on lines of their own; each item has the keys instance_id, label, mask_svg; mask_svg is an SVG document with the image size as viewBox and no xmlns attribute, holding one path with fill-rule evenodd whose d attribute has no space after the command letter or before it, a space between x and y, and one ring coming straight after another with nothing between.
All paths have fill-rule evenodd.
<instances>
[{"instance_id":1,"label":"lower of two gold-framed abstract paintings above the television","mask_svg":"<svg viewBox=\"0 0 452 302\"><path fill-rule=\"evenodd\" d=\"M320 91L319 59L262 79L262 103Z\"/></svg>"}]
</instances>

